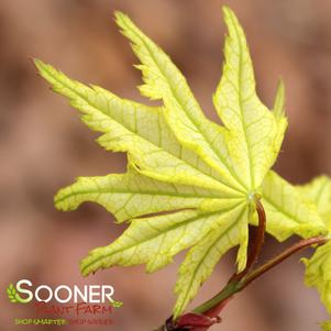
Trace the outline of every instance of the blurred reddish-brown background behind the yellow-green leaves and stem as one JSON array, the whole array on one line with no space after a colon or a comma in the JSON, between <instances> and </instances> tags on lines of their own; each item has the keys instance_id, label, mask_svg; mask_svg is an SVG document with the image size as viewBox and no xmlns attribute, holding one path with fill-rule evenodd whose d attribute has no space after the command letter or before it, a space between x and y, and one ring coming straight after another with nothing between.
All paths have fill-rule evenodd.
<instances>
[{"instance_id":1,"label":"blurred reddish-brown background behind the yellow-green leaves and stem","mask_svg":"<svg viewBox=\"0 0 331 331\"><path fill-rule=\"evenodd\" d=\"M112 268L82 279L78 261L106 245L124 227L102 208L86 203L74 212L53 207L58 188L76 176L123 172L125 155L93 142L77 112L52 93L29 59L40 57L70 77L139 101L140 74L112 12L128 12L184 71L205 112L221 73L225 33L220 7L231 5L245 27L257 88L273 104L279 76L286 82L289 128L276 169L293 183L331 175L331 2L329 0L2 0L0 2L0 321L34 317L32 305L9 304L5 287L34 284L111 284L124 301L112 327L63 330L147 331L174 304L173 286L183 256L154 275L143 267ZM290 242L284 244L288 245ZM264 257L282 245L268 238ZM309 255L310 253L307 252ZM315 331L327 313L313 289L302 286L298 256L239 295L212 330ZM233 272L233 253L218 265L197 305L218 291ZM47 327L43 330L56 330ZM41 329L41 328L40 328Z\"/></svg>"}]
</instances>

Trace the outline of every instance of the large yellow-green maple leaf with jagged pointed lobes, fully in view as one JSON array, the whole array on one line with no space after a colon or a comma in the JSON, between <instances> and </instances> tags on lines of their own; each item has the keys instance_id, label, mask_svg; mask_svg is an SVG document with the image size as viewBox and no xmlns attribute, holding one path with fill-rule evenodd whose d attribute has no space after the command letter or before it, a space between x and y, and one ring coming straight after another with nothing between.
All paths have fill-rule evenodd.
<instances>
[{"instance_id":1,"label":"large yellow-green maple leaf with jagged pointed lobes, fully in view","mask_svg":"<svg viewBox=\"0 0 331 331\"><path fill-rule=\"evenodd\" d=\"M102 133L98 143L128 153L125 174L79 178L55 197L60 210L95 201L119 222L130 222L118 240L81 261L82 275L137 264L154 272L189 249L179 269L174 318L230 249L239 246L238 269L245 268L257 197L265 203L267 230L278 240L324 231L313 203L269 172L287 126L283 82L271 111L256 95L244 32L229 8L223 14L229 34L213 96L223 125L205 117L178 68L123 13L117 12L115 20L141 60L140 90L162 100L162 107L121 99L35 60L53 89L69 99L90 129Z\"/></svg>"}]
</instances>

